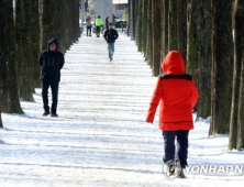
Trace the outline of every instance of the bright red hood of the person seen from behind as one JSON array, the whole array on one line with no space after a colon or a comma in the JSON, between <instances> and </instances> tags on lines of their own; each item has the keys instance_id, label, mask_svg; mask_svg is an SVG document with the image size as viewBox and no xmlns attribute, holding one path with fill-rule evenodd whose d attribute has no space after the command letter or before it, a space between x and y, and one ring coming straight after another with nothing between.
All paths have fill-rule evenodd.
<instances>
[{"instance_id":1,"label":"bright red hood of the person seen from behind","mask_svg":"<svg viewBox=\"0 0 244 187\"><path fill-rule=\"evenodd\" d=\"M162 63L162 69L164 74L185 74L185 62L181 54L178 51L170 51Z\"/></svg>"}]
</instances>

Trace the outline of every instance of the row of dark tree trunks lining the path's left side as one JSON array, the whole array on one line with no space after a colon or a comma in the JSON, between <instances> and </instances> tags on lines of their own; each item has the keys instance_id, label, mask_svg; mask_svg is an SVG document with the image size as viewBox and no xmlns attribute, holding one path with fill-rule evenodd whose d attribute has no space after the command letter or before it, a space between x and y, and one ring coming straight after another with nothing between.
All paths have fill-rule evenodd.
<instances>
[{"instance_id":1,"label":"row of dark tree trunks lining the path's left side","mask_svg":"<svg viewBox=\"0 0 244 187\"><path fill-rule=\"evenodd\" d=\"M2 0L0 6L1 112L23 113L19 98L33 101L40 87L37 58L55 36L65 53L80 36L79 0ZM13 12L13 7L15 12Z\"/></svg>"}]
</instances>

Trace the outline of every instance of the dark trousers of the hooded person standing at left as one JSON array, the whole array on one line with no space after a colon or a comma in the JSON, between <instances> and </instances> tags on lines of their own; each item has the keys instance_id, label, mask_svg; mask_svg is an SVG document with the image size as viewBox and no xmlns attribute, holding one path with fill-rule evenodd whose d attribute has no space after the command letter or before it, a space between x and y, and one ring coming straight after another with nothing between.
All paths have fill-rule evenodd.
<instances>
[{"instance_id":1,"label":"dark trousers of the hooded person standing at left","mask_svg":"<svg viewBox=\"0 0 244 187\"><path fill-rule=\"evenodd\" d=\"M53 100L51 112L56 113L56 111L57 111L57 98L58 98L58 85L59 85L59 81L55 81L55 82L42 81L43 108L44 108L45 111L49 111L48 88L51 87L51 89L52 89L52 100Z\"/></svg>"}]
</instances>

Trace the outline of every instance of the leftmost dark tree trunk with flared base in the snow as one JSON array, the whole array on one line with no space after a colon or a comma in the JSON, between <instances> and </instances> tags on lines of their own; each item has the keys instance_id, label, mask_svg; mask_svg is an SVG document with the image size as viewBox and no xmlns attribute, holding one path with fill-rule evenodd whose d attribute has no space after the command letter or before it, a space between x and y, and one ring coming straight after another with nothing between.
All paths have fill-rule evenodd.
<instances>
[{"instance_id":1,"label":"leftmost dark tree trunk with flared base in the snow","mask_svg":"<svg viewBox=\"0 0 244 187\"><path fill-rule=\"evenodd\" d=\"M12 1L3 0L0 7L0 108L2 112L23 113L16 91L13 28Z\"/></svg>"}]
</instances>

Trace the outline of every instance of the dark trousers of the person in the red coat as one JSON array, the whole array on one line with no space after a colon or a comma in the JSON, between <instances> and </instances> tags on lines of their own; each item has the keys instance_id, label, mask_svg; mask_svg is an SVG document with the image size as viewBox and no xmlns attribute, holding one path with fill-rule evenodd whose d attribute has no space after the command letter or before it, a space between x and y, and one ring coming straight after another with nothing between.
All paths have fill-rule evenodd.
<instances>
[{"instance_id":1,"label":"dark trousers of the person in the red coat","mask_svg":"<svg viewBox=\"0 0 244 187\"><path fill-rule=\"evenodd\" d=\"M175 160L175 153L177 153L181 167L185 168L187 166L188 134L189 130L163 131L165 148L164 163L169 160ZM175 140L177 140L177 150Z\"/></svg>"}]
</instances>

